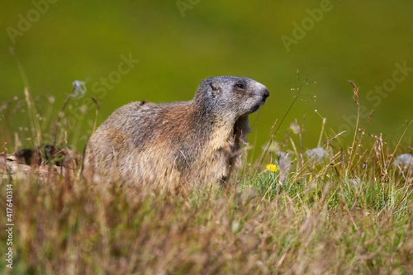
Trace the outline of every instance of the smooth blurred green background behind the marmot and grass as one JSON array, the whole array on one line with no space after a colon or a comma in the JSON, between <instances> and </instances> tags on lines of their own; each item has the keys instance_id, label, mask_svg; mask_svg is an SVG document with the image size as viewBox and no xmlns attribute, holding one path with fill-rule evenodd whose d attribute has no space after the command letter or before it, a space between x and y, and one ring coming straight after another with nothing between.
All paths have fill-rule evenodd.
<instances>
[{"instance_id":1,"label":"smooth blurred green background behind the marmot and grass","mask_svg":"<svg viewBox=\"0 0 413 275\"><path fill-rule=\"evenodd\" d=\"M82 104L89 106L67 137L79 151L94 121L90 96L100 102L100 124L131 101L190 100L203 78L246 76L271 91L261 111L251 115L248 139L257 154L297 94L291 88L298 85L299 69L301 82L308 75L317 83L303 87L277 140L305 115L304 145L317 146L322 119L315 109L327 118L331 135L350 130L344 137L350 140L357 108L348 80L354 80L365 132L394 141L413 116L412 11L412 1L384 0L10 1L0 9L0 104L16 96L24 102L11 46L40 113L55 117L72 82L87 80L86 94L72 99L66 110L71 115L80 113ZM133 60L129 68L125 58ZM52 110L47 100L41 102L48 95L55 98ZM0 113L0 146L8 142L13 148L14 132L30 136L30 122L24 105L17 113L10 106Z\"/></svg>"}]
</instances>

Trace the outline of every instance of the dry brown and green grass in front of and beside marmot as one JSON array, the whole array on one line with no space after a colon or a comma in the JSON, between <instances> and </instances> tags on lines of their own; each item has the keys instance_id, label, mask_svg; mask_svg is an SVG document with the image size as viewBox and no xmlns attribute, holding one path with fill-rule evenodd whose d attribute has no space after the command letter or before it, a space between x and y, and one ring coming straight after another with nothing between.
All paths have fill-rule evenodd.
<instances>
[{"instance_id":1,"label":"dry brown and green grass in front of and beside marmot","mask_svg":"<svg viewBox=\"0 0 413 275\"><path fill-rule=\"evenodd\" d=\"M325 126L317 144L324 157L303 149L304 127L271 134L262 163L246 162L229 190L147 194L78 177L3 177L1 194L13 189L15 254L13 270L1 259L0 272L412 274L413 167L393 164L411 147L361 129L345 146ZM266 170L269 162L276 172Z\"/></svg>"}]
</instances>

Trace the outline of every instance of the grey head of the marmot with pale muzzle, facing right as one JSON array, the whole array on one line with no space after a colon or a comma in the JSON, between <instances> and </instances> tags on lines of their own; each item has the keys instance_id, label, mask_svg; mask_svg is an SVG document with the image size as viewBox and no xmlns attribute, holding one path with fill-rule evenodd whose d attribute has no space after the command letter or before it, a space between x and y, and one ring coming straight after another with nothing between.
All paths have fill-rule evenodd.
<instances>
[{"instance_id":1,"label":"grey head of the marmot with pale muzzle, facing right","mask_svg":"<svg viewBox=\"0 0 413 275\"><path fill-rule=\"evenodd\" d=\"M251 78L218 76L201 81L194 101L206 111L237 120L257 111L269 95L264 85Z\"/></svg>"}]
</instances>

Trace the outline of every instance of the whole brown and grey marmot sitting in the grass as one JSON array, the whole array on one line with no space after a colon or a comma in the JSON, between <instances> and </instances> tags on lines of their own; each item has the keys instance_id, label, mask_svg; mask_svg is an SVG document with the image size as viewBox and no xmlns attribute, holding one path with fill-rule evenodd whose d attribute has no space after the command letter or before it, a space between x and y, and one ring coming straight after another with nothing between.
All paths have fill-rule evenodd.
<instances>
[{"instance_id":1,"label":"whole brown and grey marmot sitting in the grass","mask_svg":"<svg viewBox=\"0 0 413 275\"><path fill-rule=\"evenodd\" d=\"M255 80L219 76L202 80L187 102L120 107L87 142L83 177L166 188L227 181L248 115L268 96Z\"/></svg>"}]
</instances>

